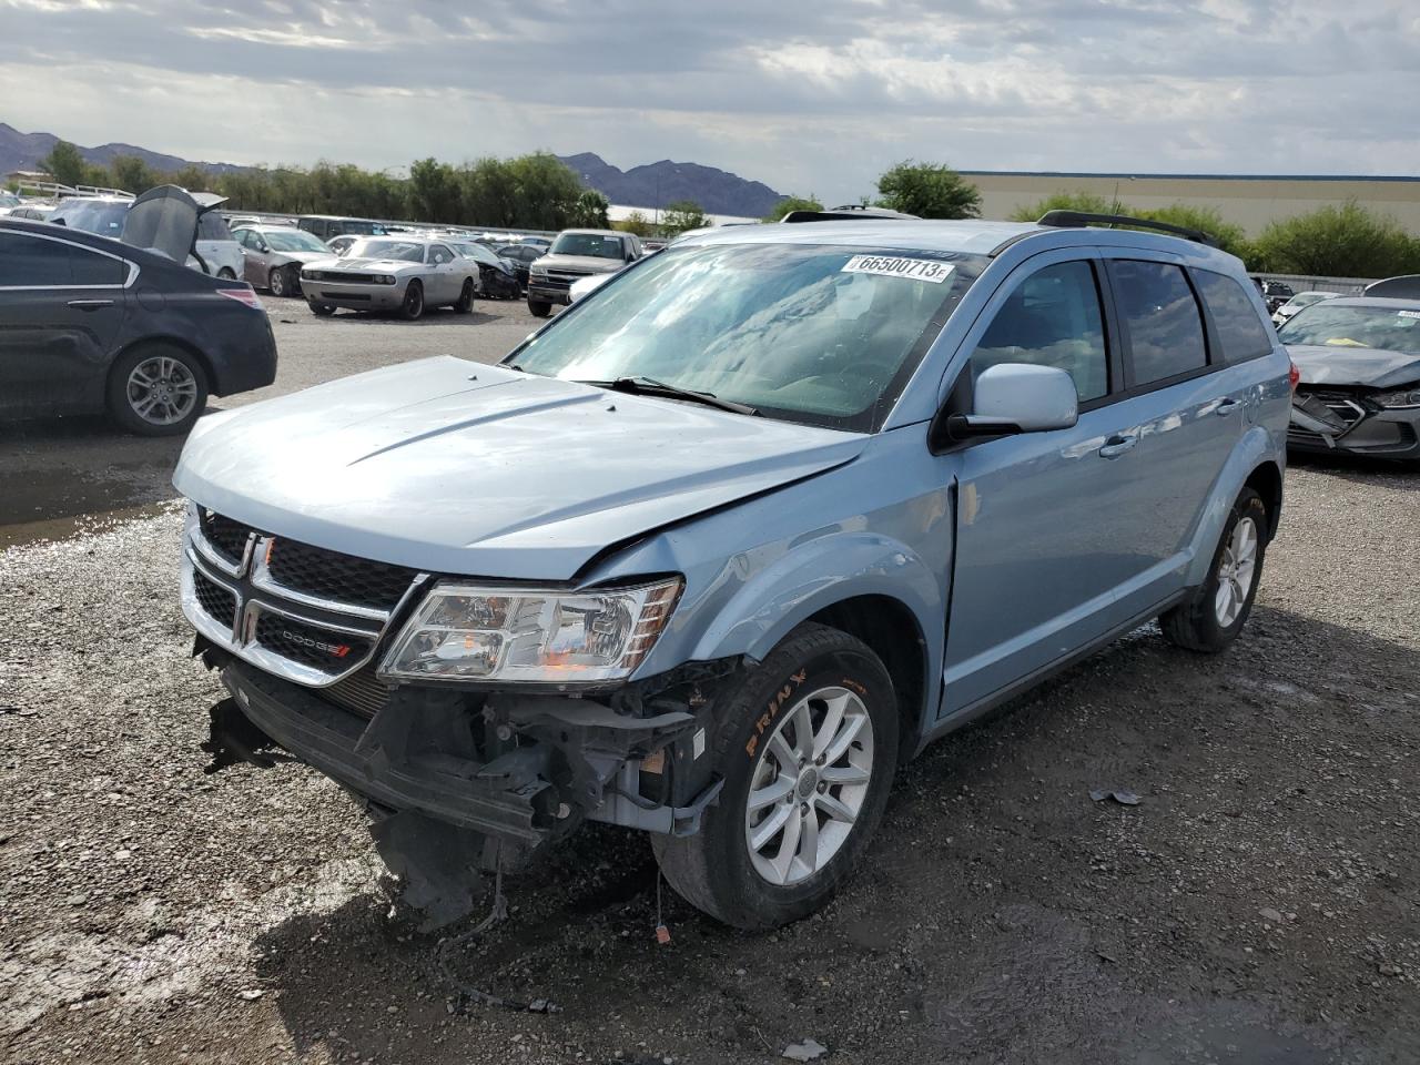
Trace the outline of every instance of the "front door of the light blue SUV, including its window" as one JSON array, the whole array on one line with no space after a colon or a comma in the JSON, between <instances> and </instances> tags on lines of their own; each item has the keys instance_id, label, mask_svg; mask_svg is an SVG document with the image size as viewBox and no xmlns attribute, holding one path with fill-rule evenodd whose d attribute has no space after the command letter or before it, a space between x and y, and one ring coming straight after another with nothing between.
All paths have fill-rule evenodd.
<instances>
[{"instance_id":1,"label":"front door of the light blue SUV, including its window","mask_svg":"<svg viewBox=\"0 0 1420 1065\"><path fill-rule=\"evenodd\" d=\"M993 298L963 373L1003 362L1069 372L1072 429L977 442L958 454L956 568L944 714L1041 670L1122 618L1119 589L1150 559L1133 506L1149 471L1116 402L1122 371L1106 328L1098 254L1037 256Z\"/></svg>"}]
</instances>

